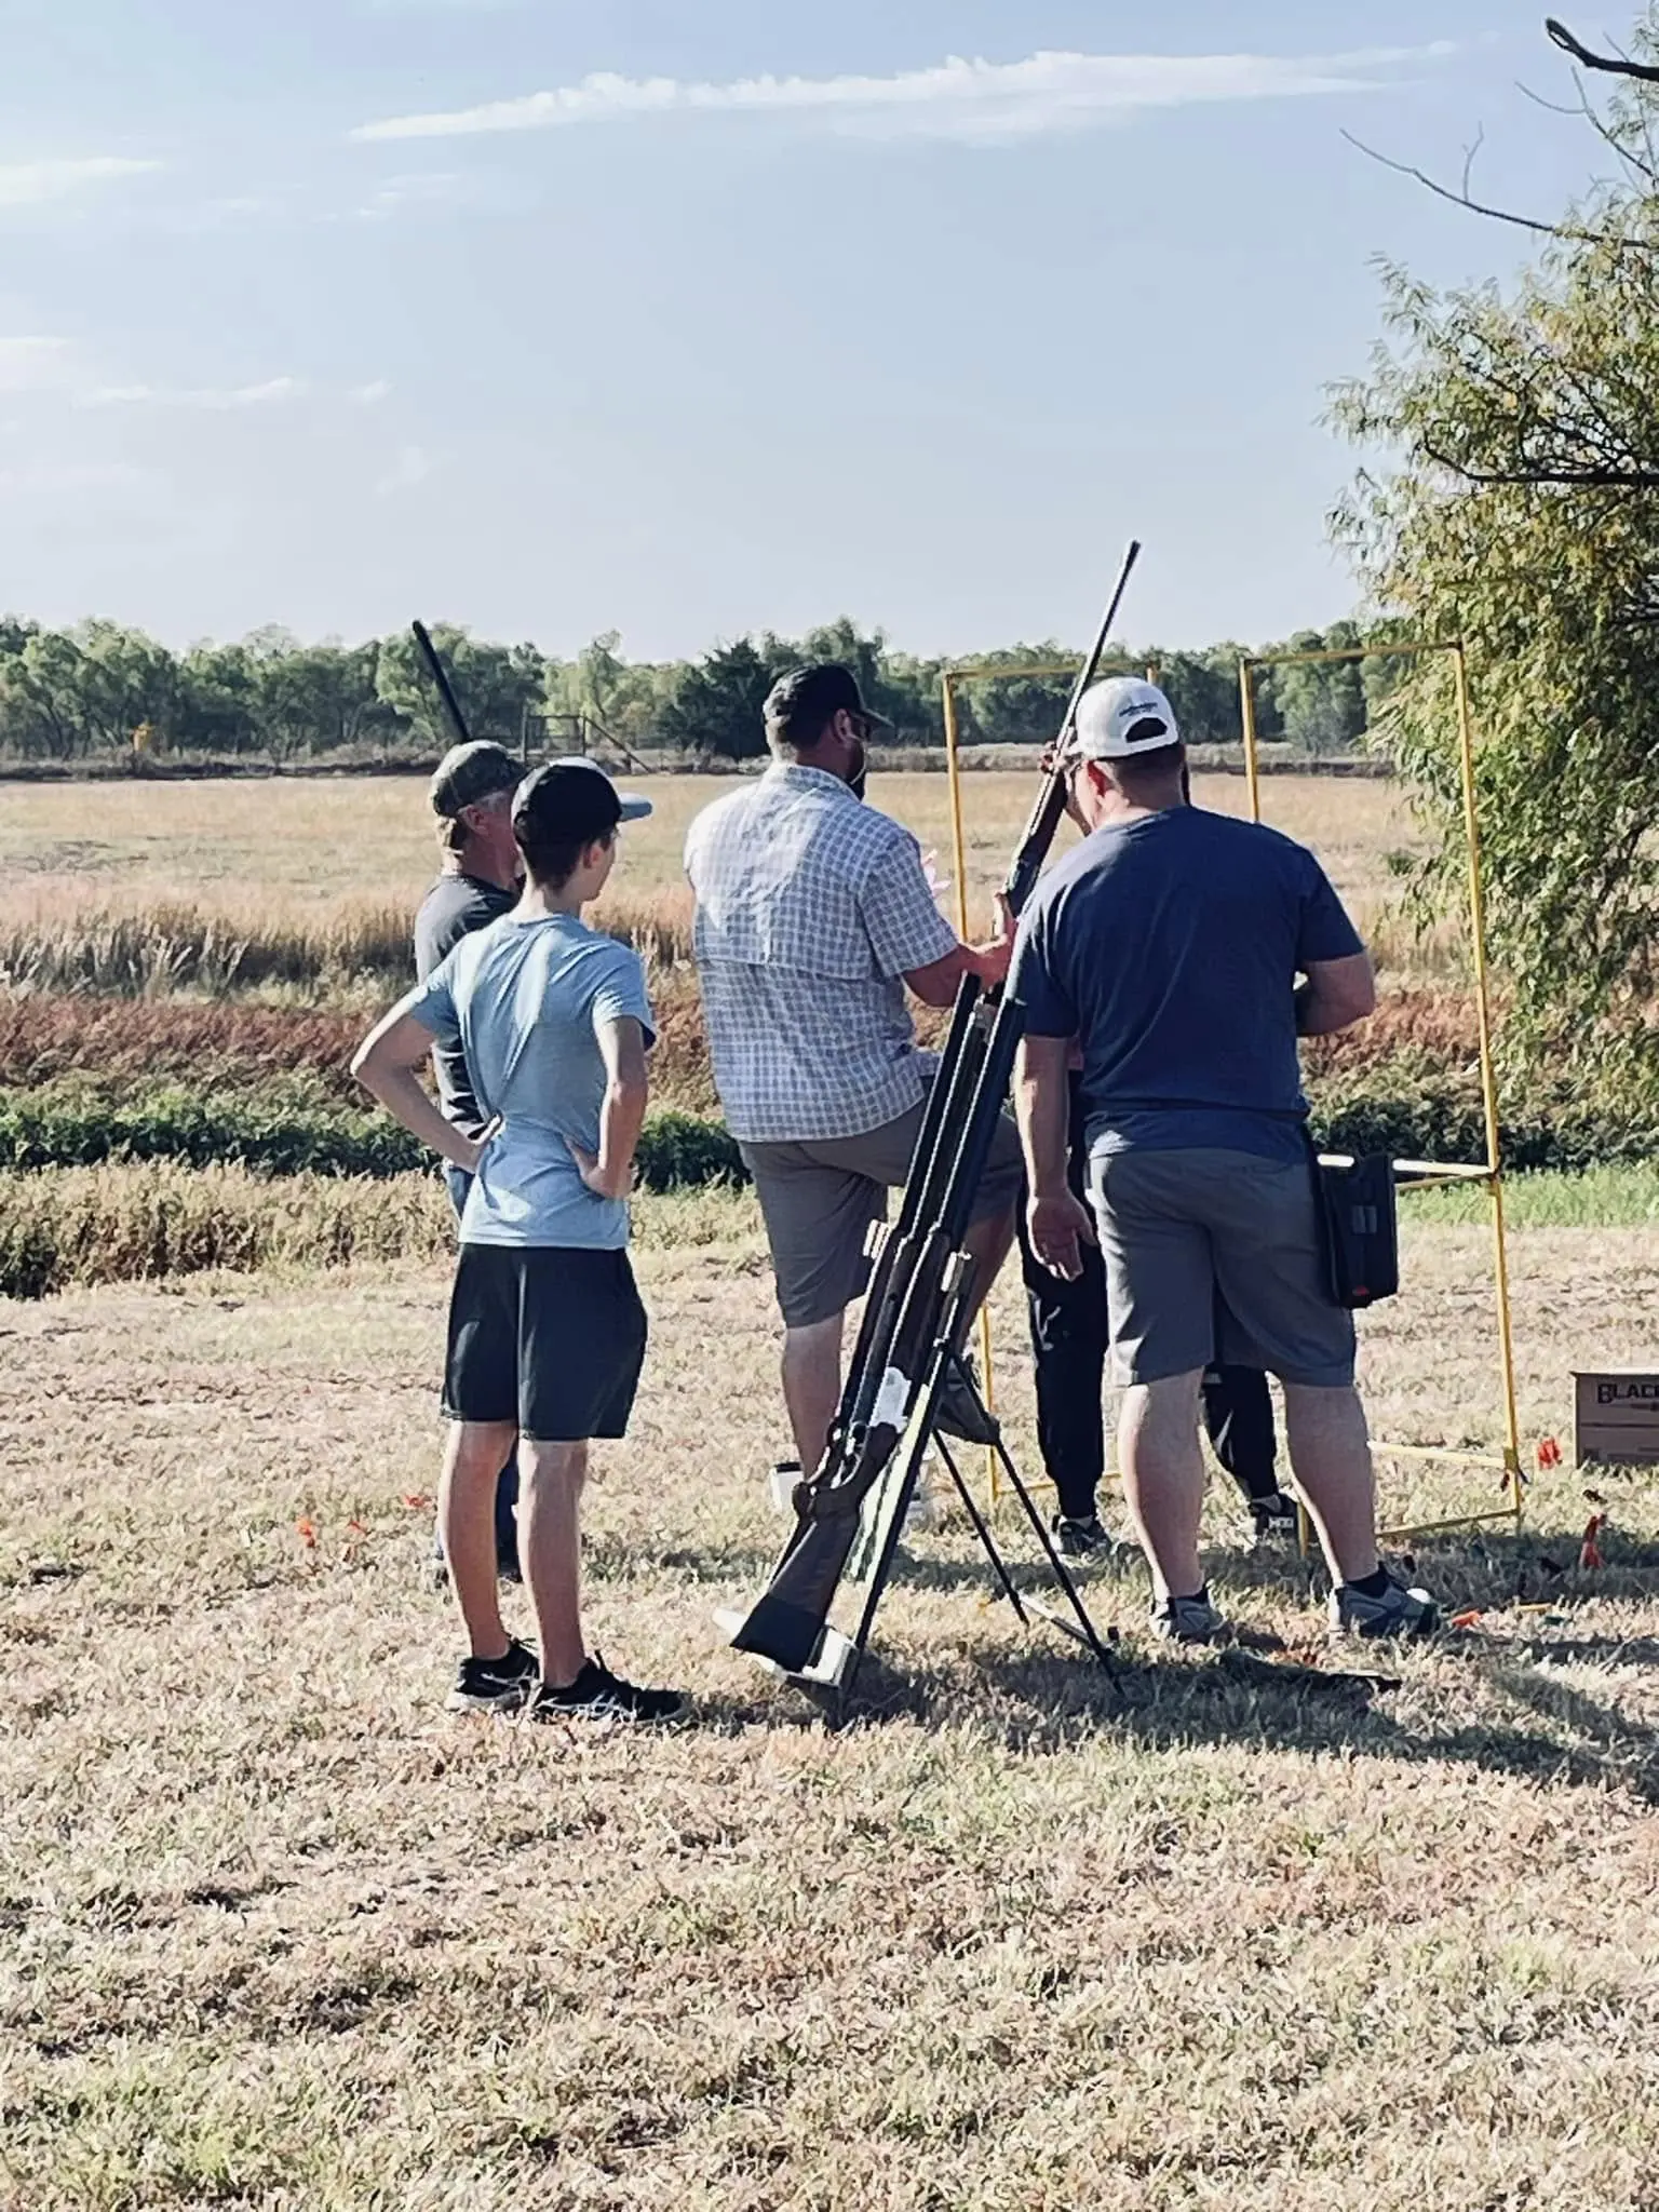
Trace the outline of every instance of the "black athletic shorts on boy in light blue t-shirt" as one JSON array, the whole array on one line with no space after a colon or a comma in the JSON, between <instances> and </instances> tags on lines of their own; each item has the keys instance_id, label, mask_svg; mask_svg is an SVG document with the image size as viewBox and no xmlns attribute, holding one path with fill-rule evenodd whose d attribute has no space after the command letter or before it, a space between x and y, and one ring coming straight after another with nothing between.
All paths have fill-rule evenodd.
<instances>
[{"instance_id":1,"label":"black athletic shorts on boy in light blue t-shirt","mask_svg":"<svg viewBox=\"0 0 1659 2212\"><path fill-rule=\"evenodd\" d=\"M538 1444L626 1436L646 1307L626 1252L460 1248L445 1413L513 1420Z\"/></svg>"}]
</instances>

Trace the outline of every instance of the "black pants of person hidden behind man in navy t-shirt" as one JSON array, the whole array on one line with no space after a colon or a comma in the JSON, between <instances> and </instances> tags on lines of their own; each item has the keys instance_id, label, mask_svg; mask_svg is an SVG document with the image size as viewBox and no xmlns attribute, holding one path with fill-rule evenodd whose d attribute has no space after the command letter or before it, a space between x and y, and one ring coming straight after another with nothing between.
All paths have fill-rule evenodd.
<instances>
[{"instance_id":1,"label":"black pants of person hidden behind man in navy t-shirt","mask_svg":"<svg viewBox=\"0 0 1659 2212\"><path fill-rule=\"evenodd\" d=\"M1086 1203L1088 1148L1077 1113L1077 1079L1071 1086L1068 1181ZM1106 1263L1095 1245L1084 1245L1084 1272L1075 1283L1048 1274L1031 1250L1024 1199L1020 1203L1020 1272L1031 1307L1031 1358L1037 1371L1037 1449L1044 1473L1060 1493L1066 1520L1088 1520L1106 1473ZM1203 1427L1217 1460L1245 1500L1270 1498L1279 1489L1274 1409L1267 1376L1259 1367L1210 1367L1203 1376Z\"/></svg>"}]
</instances>

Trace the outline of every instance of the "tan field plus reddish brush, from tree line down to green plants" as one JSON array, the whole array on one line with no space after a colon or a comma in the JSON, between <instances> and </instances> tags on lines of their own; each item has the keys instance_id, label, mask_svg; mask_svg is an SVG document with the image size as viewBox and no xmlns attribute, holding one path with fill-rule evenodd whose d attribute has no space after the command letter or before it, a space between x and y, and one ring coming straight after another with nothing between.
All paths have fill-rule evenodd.
<instances>
[{"instance_id":1,"label":"tan field plus reddish brush, from tree line down to green plants","mask_svg":"<svg viewBox=\"0 0 1659 2212\"><path fill-rule=\"evenodd\" d=\"M597 918L650 964L661 1099L710 1113L679 852L690 816L721 783L653 776L650 790L659 812L628 827ZM964 790L978 927L1031 803L1031 776L987 772ZM1245 790L1237 776L1203 776L1199 796L1239 812ZM951 876L945 779L883 776L878 799ZM97 803L115 812L106 796ZM343 1062L367 1011L407 973L409 918L434 867L420 783L135 783L122 787L119 836L106 841L80 834L86 807L77 787L0 787L0 980L13 987L0 995L0 1082L75 1068L246 1082L307 1068L352 1095ZM1467 1064L1473 1024L1455 931L1413 945L1385 911L1385 856L1409 841L1398 792L1276 776L1267 812L1321 849L1369 920L1394 982L1376 1022L1314 1048L1310 1064L1338 1073L1402 1055L1436 1068ZM95 1004L100 993L144 1004L106 1009Z\"/></svg>"}]
</instances>

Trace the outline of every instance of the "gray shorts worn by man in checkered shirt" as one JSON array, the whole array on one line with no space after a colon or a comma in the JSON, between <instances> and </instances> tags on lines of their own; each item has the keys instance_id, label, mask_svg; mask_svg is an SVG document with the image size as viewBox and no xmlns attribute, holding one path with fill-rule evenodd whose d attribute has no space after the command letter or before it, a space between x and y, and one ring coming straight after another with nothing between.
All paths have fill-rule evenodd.
<instances>
[{"instance_id":1,"label":"gray shorts worn by man in checkered shirt","mask_svg":"<svg viewBox=\"0 0 1659 2212\"><path fill-rule=\"evenodd\" d=\"M887 1192L909 1177L927 1102L858 1137L810 1144L741 1144L772 1245L772 1272L787 1329L810 1329L852 1305L869 1281L869 1223L887 1212ZM1020 1130L998 1119L973 1194L973 1219L1011 1212L1020 1197Z\"/></svg>"}]
</instances>

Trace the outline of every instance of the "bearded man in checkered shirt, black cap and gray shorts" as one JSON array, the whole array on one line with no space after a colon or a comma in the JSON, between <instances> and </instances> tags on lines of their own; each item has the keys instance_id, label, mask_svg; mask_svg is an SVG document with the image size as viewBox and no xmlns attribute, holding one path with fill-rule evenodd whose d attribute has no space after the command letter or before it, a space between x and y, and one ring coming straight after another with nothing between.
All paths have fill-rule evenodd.
<instances>
[{"instance_id":1,"label":"bearded man in checkered shirt, black cap and gray shorts","mask_svg":"<svg viewBox=\"0 0 1659 2212\"><path fill-rule=\"evenodd\" d=\"M962 975L991 987L1009 971L1006 914L993 942L960 945L916 838L863 803L878 726L849 668L792 670L765 701L772 765L703 807L686 838L714 1088L761 1199L805 1469L823 1460L841 1400L869 1223L907 1177L933 1077L905 989L949 1006ZM980 1296L1009 1252L1018 1192L1020 1139L1004 1117L967 1237ZM984 1436L964 1391L947 1391L940 1427Z\"/></svg>"}]
</instances>

